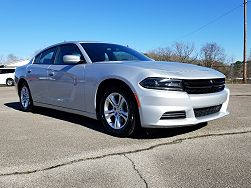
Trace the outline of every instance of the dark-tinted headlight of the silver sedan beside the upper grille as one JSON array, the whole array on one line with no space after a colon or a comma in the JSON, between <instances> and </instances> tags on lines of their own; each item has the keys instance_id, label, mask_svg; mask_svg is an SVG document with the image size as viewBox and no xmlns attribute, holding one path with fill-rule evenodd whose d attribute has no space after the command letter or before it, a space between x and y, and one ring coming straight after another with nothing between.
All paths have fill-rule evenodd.
<instances>
[{"instance_id":1,"label":"dark-tinted headlight of the silver sedan beside the upper grille","mask_svg":"<svg viewBox=\"0 0 251 188\"><path fill-rule=\"evenodd\" d=\"M149 77L139 84L147 89L183 91L182 80L178 79Z\"/></svg>"}]
</instances>

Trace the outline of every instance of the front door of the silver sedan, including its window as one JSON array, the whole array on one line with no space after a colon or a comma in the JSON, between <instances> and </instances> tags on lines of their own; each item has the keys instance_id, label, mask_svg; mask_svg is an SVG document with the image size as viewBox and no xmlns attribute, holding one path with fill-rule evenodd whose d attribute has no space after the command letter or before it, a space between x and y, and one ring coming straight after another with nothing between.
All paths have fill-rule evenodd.
<instances>
[{"instance_id":1,"label":"front door of the silver sedan, including its window","mask_svg":"<svg viewBox=\"0 0 251 188\"><path fill-rule=\"evenodd\" d=\"M48 67L49 103L55 106L84 111L85 64L65 64L64 55L77 55L84 59L75 44L59 46L55 64Z\"/></svg>"}]
</instances>

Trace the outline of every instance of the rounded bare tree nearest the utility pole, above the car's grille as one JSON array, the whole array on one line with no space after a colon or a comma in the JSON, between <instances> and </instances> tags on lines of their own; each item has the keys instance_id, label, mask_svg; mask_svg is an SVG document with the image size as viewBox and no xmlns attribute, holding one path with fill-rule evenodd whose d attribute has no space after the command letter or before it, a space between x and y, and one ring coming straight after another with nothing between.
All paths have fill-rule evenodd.
<instances>
[{"instance_id":1,"label":"rounded bare tree nearest the utility pole, above the car's grille","mask_svg":"<svg viewBox=\"0 0 251 188\"><path fill-rule=\"evenodd\" d=\"M217 62L224 62L226 58L224 49L215 42L206 43L202 46L200 53L204 66L207 67L212 67Z\"/></svg>"}]
</instances>

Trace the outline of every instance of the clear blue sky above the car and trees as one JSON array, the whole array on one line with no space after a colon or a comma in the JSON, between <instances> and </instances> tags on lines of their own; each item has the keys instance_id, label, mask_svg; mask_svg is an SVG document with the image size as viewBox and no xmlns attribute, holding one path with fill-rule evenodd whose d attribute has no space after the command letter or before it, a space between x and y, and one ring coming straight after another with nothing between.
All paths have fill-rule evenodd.
<instances>
[{"instance_id":1,"label":"clear blue sky above the car and trees","mask_svg":"<svg viewBox=\"0 0 251 188\"><path fill-rule=\"evenodd\" d=\"M0 55L13 53L26 58L64 40L113 42L141 52L183 41L194 43L197 50L206 42L216 42L229 58L242 60L242 3L243 0L1 0ZM248 37L248 55L250 49Z\"/></svg>"}]
</instances>

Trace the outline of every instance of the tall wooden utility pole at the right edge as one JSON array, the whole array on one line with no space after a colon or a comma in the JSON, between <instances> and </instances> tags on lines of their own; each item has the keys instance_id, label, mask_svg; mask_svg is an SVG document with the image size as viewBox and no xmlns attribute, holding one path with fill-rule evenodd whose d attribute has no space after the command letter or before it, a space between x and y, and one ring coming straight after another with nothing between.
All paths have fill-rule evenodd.
<instances>
[{"instance_id":1,"label":"tall wooden utility pole at the right edge","mask_svg":"<svg viewBox=\"0 0 251 188\"><path fill-rule=\"evenodd\" d=\"M247 0L244 0L244 48L243 48L243 83L247 83Z\"/></svg>"}]
</instances>

